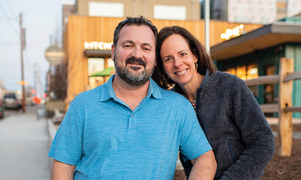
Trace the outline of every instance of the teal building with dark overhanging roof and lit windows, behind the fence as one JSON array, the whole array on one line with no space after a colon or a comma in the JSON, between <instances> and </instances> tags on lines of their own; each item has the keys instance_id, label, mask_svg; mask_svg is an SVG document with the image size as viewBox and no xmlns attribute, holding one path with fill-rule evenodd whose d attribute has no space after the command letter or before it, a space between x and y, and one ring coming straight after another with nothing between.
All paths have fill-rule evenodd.
<instances>
[{"instance_id":1,"label":"teal building with dark overhanging roof and lit windows, behind the fence","mask_svg":"<svg viewBox=\"0 0 301 180\"><path fill-rule=\"evenodd\" d=\"M242 79L279 73L282 57L294 58L294 70L301 70L301 14L284 18L247 34L211 47L219 70ZM277 103L278 84L249 87L259 104ZM301 106L301 80L293 81L293 106ZM277 113L266 116L277 117ZM301 113L293 113L301 118Z\"/></svg>"}]
</instances>

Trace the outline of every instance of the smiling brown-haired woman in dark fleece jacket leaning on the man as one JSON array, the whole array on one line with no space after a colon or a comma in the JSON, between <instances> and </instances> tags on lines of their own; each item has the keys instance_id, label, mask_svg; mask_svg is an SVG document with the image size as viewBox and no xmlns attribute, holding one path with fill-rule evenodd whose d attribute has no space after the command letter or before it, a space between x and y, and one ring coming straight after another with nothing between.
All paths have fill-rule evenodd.
<instances>
[{"instance_id":1,"label":"smiling brown-haired woman in dark fleece jacket leaning on the man","mask_svg":"<svg viewBox=\"0 0 301 180\"><path fill-rule=\"evenodd\" d=\"M217 71L206 48L179 26L161 29L153 79L184 95L213 148L214 179L254 180L273 156L275 140L256 99L237 76ZM185 175L192 164L180 156Z\"/></svg>"}]
</instances>

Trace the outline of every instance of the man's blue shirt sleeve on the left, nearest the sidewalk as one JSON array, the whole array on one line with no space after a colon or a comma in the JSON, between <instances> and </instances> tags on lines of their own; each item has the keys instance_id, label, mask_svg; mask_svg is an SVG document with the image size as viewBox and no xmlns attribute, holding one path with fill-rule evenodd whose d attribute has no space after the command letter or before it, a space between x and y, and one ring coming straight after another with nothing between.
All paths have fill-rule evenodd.
<instances>
[{"instance_id":1,"label":"man's blue shirt sleeve on the left, nearest the sidewalk","mask_svg":"<svg viewBox=\"0 0 301 180\"><path fill-rule=\"evenodd\" d=\"M82 157L83 128L72 104L55 134L48 156L65 164L76 165Z\"/></svg>"}]
</instances>

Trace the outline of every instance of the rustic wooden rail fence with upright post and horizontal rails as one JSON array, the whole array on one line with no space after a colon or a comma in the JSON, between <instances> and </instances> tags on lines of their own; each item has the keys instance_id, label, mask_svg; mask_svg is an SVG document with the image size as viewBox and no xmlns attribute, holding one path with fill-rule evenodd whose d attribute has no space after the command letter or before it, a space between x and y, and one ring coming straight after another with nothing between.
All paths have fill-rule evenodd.
<instances>
[{"instance_id":1,"label":"rustic wooden rail fence with upright post and horizontal rails","mask_svg":"<svg viewBox=\"0 0 301 180\"><path fill-rule=\"evenodd\" d=\"M278 113L278 134L280 155L290 156L293 142L293 112L301 112L301 107L292 106L293 80L301 79L301 70L294 72L294 59L281 58L279 74L259 76L245 80L248 86L279 83L278 104L261 104L264 113Z\"/></svg>"}]
</instances>

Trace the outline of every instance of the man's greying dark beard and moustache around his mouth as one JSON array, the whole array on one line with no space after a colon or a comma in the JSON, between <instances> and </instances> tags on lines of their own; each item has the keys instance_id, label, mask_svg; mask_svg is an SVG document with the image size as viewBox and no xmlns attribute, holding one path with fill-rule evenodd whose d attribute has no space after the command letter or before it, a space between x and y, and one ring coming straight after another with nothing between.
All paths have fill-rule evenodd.
<instances>
[{"instance_id":1,"label":"man's greying dark beard and moustache around his mouth","mask_svg":"<svg viewBox=\"0 0 301 180\"><path fill-rule=\"evenodd\" d=\"M132 70L135 72L130 71L127 68L127 64L129 62L136 62L139 64L142 64L144 67L144 70L142 72L138 72L138 70L141 69L141 67L136 66L130 66ZM155 69L155 63L154 66L150 69L146 69L146 63L141 58L135 58L135 57L129 57L126 59L125 66L123 67L122 64L118 64L118 58L116 57L116 52L114 53L114 66L115 71L118 74L118 76L123 79L125 82L127 82L130 85L134 86L141 86L144 85L150 78L151 75L154 72Z\"/></svg>"}]
</instances>

